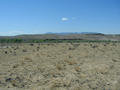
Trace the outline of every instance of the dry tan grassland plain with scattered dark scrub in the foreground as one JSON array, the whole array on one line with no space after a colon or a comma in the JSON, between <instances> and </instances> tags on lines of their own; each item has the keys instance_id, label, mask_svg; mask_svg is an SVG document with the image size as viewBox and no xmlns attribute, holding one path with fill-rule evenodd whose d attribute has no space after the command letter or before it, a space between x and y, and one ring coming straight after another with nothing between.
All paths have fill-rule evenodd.
<instances>
[{"instance_id":1,"label":"dry tan grassland plain with scattered dark scrub in the foreground","mask_svg":"<svg viewBox=\"0 0 120 90\"><path fill-rule=\"evenodd\" d=\"M0 90L120 90L120 43L0 44Z\"/></svg>"}]
</instances>

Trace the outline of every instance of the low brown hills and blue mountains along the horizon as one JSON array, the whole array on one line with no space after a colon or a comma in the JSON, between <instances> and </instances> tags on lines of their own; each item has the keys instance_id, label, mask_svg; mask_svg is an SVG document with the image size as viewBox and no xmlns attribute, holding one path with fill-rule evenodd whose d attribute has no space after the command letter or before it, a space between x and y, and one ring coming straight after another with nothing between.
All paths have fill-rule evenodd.
<instances>
[{"instance_id":1,"label":"low brown hills and blue mountains along the horizon","mask_svg":"<svg viewBox=\"0 0 120 90\"><path fill-rule=\"evenodd\" d=\"M46 34L25 34L17 36L0 36L0 39L20 38L25 40L31 39L80 39L80 40L111 40L120 41L120 34L102 34L96 32L61 32Z\"/></svg>"}]
</instances>

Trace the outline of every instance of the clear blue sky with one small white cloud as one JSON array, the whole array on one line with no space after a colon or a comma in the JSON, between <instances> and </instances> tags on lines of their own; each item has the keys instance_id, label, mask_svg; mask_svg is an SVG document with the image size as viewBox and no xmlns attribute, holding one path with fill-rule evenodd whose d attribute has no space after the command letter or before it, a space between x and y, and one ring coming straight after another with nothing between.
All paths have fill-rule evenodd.
<instances>
[{"instance_id":1,"label":"clear blue sky with one small white cloud","mask_svg":"<svg viewBox=\"0 0 120 90\"><path fill-rule=\"evenodd\" d=\"M0 0L0 35L120 34L120 0Z\"/></svg>"}]
</instances>

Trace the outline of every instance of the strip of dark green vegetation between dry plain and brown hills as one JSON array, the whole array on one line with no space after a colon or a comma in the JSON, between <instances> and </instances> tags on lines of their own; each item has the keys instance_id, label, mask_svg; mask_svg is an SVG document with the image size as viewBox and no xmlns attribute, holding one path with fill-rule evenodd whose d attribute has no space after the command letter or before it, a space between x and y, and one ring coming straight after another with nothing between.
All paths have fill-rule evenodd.
<instances>
[{"instance_id":1,"label":"strip of dark green vegetation between dry plain and brown hills","mask_svg":"<svg viewBox=\"0 0 120 90\"><path fill-rule=\"evenodd\" d=\"M80 43L80 42L113 42L118 43L120 41L111 41L111 40L81 40L81 39L0 39L0 43ZM33 46L34 44L30 44ZM73 44L74 47L78 47L79 44Z\"/></svg>"}]
</instances>

